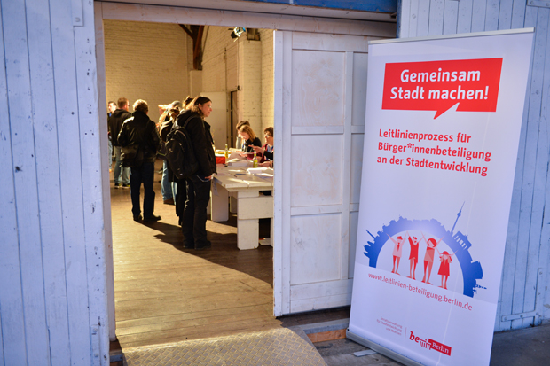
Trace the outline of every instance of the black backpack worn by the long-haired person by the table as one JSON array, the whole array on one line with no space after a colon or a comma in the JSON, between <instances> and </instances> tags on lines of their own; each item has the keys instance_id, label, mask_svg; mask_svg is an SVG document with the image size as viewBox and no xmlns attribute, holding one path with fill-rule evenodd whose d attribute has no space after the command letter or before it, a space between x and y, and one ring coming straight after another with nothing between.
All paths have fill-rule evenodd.
<instances>
[{"instance_id":1,"label":"black backpack worn by the long-haired person by the table","mask_svg":"<svg viewBox=\"0 0 550 366\"><path fill-rule=\"evenodd\" d=\"M166 160L177 179L189 178L199 170L199 162L195 157L191 137L185 129L187 122L193 117L189 117L183 127L174 123L166 136Z\"/></svg>"}]
</instances>

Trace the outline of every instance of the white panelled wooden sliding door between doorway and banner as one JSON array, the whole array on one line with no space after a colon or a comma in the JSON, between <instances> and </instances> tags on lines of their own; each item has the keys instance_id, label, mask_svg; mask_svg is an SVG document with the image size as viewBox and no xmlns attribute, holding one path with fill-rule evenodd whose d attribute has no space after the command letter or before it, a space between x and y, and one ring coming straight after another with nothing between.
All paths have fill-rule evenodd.
<instances>
[{"instance_id":1,"label":"white panelled wooden sliding door between doorway and banner","mask_svg":"<svg viewBox=\"0 0 550 366\"><path fill-rule=\"evenodd\" d=\"M371 39L275 32L275 315L350 304Z\"/></svg>"}]
</instances>

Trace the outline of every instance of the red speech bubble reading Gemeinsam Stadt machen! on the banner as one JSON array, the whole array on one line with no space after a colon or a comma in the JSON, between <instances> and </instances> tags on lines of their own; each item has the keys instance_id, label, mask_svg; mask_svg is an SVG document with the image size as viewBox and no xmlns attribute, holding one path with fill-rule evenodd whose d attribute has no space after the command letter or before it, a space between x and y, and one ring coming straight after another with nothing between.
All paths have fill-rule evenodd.
<instances>
[{"instance_id":1,"label":"red speech bubble reading Gemeinsam Stadt machen! on the banner","mask_svg":"<svg viewBox=\"0 0 550 366\"><path fill-rule=\"evenodd\" d=\"M495 112L502 58L386 64L382 109Z\"/></svg>"}]
</instances>

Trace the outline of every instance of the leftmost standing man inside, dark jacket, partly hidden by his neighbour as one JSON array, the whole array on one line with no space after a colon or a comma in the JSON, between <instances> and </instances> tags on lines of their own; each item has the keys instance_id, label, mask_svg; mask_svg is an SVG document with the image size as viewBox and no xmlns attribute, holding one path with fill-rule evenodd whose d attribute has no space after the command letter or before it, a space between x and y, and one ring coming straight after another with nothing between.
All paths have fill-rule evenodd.
<instances>
[{"instance_id":1,"label":"leftmost standing man inside, dark jacket, partly hidden by his neighbour","mask_svg":"<svg viewBox=\"0 0 550 366\"><path fill-rule=\"evenodd\" d=\"M130 188L130 168L122 167L121 153L122 145L118 141L118 135L121 133L122 123L129 119L132 115L128 112L130 108L130 102L125 97L119 97L116 102L118 108L113 112L113 114L108 119L109 131L111 131L111 142L113 144L114 150L114 188L121 187L121 178L122 178L122 188Z\"/></svg>"}]
</instances>

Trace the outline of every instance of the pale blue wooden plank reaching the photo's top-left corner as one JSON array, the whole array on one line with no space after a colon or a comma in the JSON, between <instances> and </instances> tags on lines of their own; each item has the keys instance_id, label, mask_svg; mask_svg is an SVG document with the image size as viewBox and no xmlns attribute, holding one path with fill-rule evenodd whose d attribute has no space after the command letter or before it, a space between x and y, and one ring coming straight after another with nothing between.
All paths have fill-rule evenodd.
<instances>
[{"instance_id":1,"label":"pale blue wooden plank reaching the photo's top-left corner","mask_svg":"<svg viewBox=\"0 0 550 366\"><path fill-rule=\"evenodd\" d=\"M2 3L4 50L7 85L9 90L9 120L12 137L13 167L15 172L15 206L19 234L20 284L23 295L23 314L27 360L40 364L50 359L43 293L43 261L36 176L36 152L33 126L30 60L28 54L27 19L25 3ZM7 132L7 131L6 131ZM4 316L3 316L4 318ZM20 360L25 355L16 355Z\"/></svg>"}]
</instances>

